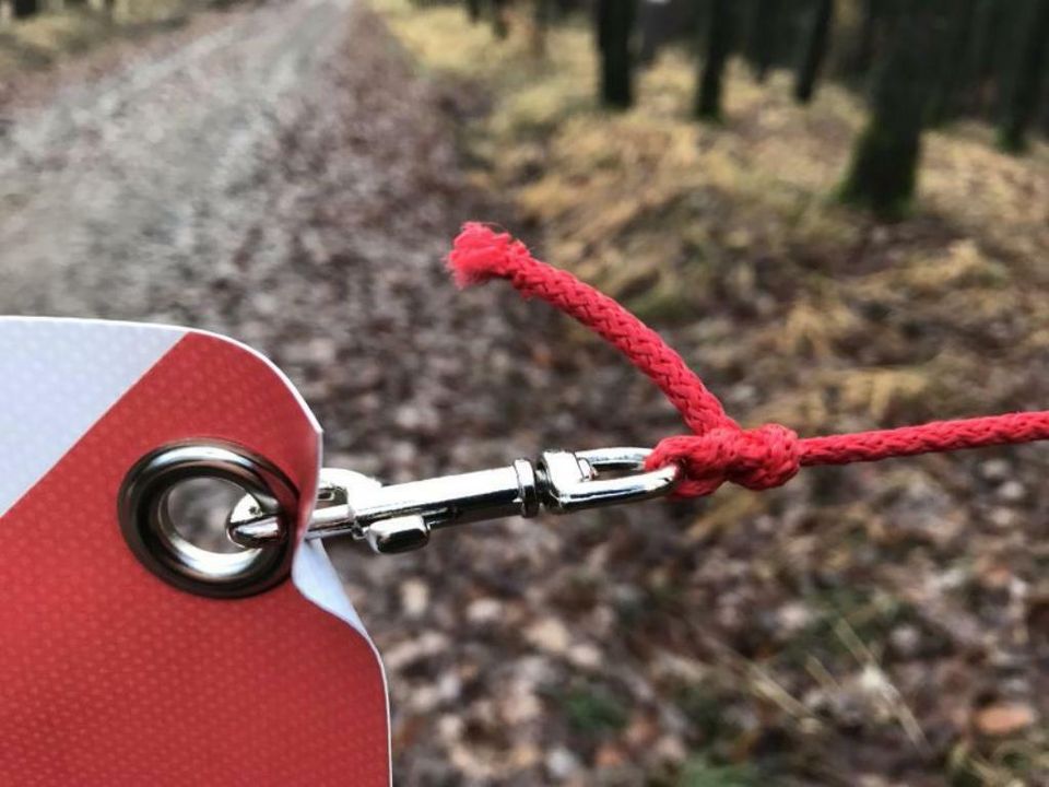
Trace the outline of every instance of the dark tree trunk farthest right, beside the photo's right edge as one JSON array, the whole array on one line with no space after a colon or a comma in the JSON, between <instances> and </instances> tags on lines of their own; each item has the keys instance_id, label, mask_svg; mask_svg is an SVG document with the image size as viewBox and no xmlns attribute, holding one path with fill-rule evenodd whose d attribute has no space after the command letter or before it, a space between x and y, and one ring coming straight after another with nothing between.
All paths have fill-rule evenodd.
<instances>
[{"instance_id":1,"label":"dark tree trunk farthest right, beside the photo's right edge","mask_svg":"<svg viewBox=\"0 0 1049 787\"><path fill-rule=\"evenodd\" d=\"M1024 5L1017 13L1019 26L1013 40L1018 51L1013 78L1004 91L998 132L999 145L1010 153L1019 153L1027 146L1027 130L1038 109L1049 50L1049 0L1026 0Z\"/></svg>"}]
</instances>

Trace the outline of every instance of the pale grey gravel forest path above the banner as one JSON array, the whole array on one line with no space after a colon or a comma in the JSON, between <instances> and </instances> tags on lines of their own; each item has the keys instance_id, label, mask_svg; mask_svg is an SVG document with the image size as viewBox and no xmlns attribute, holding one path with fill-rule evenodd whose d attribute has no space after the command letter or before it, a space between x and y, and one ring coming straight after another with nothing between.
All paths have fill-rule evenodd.
<instances>
[{"instance_id":1,"label":"pale grey gravel forest path above the banner","mask_svg":"<svg viewBox=\"0 0 1049 787\"><path fill-rule=\"evenodd\" d=\"M0 309L151 317L161 269L228 259L260 208L281 113L309 92L349 7L262 5L15 115L0 146L0 249L16 275Z\"/></svg>"}]
</instances>

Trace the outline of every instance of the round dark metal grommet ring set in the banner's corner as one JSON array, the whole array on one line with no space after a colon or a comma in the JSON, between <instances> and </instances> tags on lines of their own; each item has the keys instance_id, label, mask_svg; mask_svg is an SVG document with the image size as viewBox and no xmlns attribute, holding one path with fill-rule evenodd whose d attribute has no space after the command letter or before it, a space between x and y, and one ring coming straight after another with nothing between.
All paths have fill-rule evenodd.
<instances>
[{"instance_id":1,"label":"round dark metal grommet ring set in the banner's corner","mask_svg":"<svg viewBox=\"0 0 1049 787\"><path fill-rule=\"evenodd\" d=\"M260 514L276 518L282 537L246 549L202 548L180 531L170 512L172 493L187 481L227 482L250 495ZM128 472L120 489L123 538L150 571L172 585L216 598L240 598L283 580L291 569L296 495L280 470L237 446L181 444L155 450Z\"/></svg>"}]
</instances>

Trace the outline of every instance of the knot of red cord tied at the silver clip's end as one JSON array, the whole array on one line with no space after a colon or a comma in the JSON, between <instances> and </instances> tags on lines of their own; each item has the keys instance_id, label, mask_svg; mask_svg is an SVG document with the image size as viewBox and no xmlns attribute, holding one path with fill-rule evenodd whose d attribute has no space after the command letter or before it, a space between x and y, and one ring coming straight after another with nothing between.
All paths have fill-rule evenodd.
<instances>
[{"instance_id":1,"label":"knot of red cord tied at the silver clip's end","mask_svg":"<svg viewBox=\"0 0 1049 787\"><path fill-rule=\"evenodd\" d=\"M675 495L699 497L726 481L755 491L782 486L801 469L801 451L798 435L780 424L752 430L720 426L660 441L646 466L670 463L677 463L684 475Z\"/></svg>"}]
</instances>

